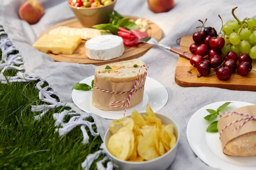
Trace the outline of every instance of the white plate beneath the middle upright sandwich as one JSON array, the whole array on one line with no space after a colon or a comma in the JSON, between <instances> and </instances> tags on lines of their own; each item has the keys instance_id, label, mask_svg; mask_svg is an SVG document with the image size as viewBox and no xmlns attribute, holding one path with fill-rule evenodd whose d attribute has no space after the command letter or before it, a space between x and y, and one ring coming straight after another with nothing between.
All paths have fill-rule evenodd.
<instances>
[{"instance_id":1,"label":"white plate beneath the middle upright sandwich","mask_svg":"<svg viewBox=\"0 0 256 170\"><path fill-rule=\"evenodd\" d=\"M91 84L91 81L94 79L94 76L87 77L83 79L80 83ZM103 111L98 108L93 107L92 105L92 95L93 91L81 91L73 90L72 99L73 102L79 107L82 111L90 112L104 117L105 119L119 119L123 117L124 111ZM125 116L131 115L133 110L138 112L145 112L146 105L149 103L154 112L158 111L160 108L163 108L168 101L168 93L166 88L161 85L160 82L154 80L150 77L146 78L145 89L143 100L135 107L127 109Z\"/></svg>"}]
</instances>

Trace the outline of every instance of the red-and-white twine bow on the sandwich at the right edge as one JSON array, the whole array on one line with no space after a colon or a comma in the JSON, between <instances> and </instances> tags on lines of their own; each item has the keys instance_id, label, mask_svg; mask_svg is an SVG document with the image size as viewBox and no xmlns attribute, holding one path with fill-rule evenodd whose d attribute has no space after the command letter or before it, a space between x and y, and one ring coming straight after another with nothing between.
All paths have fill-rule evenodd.
<instances>
[{"instance_id":1,"label":"red-and-white twine bow on the sandwich at the right edge","mask_svg":"<svg viewBox=\"0 0 256 170\"><path fill-rule=\"evenodd\" d=\"M223 129L222 129L221 132L220 132L220 136L219 136L220 139L221 139L221 134L222 134L223 130L225 130L225 129L226 129L227 127L229 127L230 125L233 125L234 123L240 122L240 121L242 121L242 120L246 120L246 121L244 121L243 123L241 123L241 125L239 125L239 126L236 127L235 129L233 129L233 132L234 132L234 131L236 131L236 130L239 130L244 124L246 124L246 123L249 122L250 120L256 120L256 116L253 116L253 115L250 115L250 114L244 114L244 113L238 113L238 112L225 112L225 113L223 113L223 114L226 114L226 113L231 113L231 114L229 114L229 115L227 115L227 116L221 117L222 119L224 119L224 118L226 118L226 117L233 116L233 115L235 115L235 114L236 114L236 115L239 115L239 116L246 116L246 117L241 118L241 119L238 119L238 120L235 120L235 121L233 121L233 122L227 124L225 127L223 127Z\"/></svg>"}]
</instances>

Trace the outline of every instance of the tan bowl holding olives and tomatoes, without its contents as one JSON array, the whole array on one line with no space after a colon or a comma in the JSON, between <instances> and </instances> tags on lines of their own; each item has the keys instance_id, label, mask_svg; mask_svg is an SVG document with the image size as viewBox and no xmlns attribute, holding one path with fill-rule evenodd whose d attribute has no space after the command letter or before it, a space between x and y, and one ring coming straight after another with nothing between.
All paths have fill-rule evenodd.
<instances>
[{"instance_id":1,"label":"tan bowl holding olives and tomatoes, without its contents","mask_svg":"<svg viewBox=\"0 0 256 170\"><path fill-rule=\"evenodd\" d=\"M91 28L97 24L108 23L110 17L108 14L113 12L114 6L117 0L113 0L113 3L106 6L95 7L95 8L79 8L69 4L68 6L72 9L73 13L76 15L77 19L82 26Z\"/></svg>"}]
</instances>

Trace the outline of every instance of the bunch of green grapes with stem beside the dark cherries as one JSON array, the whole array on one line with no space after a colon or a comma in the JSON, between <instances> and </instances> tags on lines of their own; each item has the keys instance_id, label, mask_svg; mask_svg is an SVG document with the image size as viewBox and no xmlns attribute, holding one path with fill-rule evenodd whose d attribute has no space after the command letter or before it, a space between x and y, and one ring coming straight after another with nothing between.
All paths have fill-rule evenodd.
<instances>
[{"instance_id":1,"label":"bunch of green grapes with stem beside the dark cherries","mask_svg":"<svg viewBox=\"0 0 256 170\"><path fill-rule=\"evenodd\" d=\"M256 19L244 18L239 20L233 8L232 14L236 20L228 20L222 27L224 34L221 37L225 40L225 45L222 48L222 54L227 55L229 51L240 54L249 54L252 59L256 59Z\"/></svg>"}]
</instances>

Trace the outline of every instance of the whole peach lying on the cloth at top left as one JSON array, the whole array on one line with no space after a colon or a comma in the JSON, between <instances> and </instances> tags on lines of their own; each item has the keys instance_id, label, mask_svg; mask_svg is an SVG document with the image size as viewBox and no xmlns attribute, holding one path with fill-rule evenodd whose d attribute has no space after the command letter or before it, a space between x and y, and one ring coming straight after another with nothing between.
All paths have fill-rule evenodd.
<instances>
[{"instance_id":1,"label":"whole peach lying on the cloth at top left","mask_svg":"<svg viewBox=\"0 0 256 170\"><path fill-rule=\"evenodd\" d=\"M38 0L27 0L20 5L19 15L21 20L29 24L37 23L44 14L44 7Z\"/></svg>"}]
</instances>

